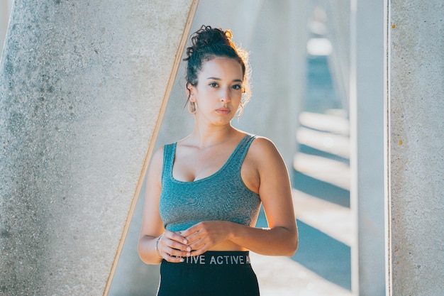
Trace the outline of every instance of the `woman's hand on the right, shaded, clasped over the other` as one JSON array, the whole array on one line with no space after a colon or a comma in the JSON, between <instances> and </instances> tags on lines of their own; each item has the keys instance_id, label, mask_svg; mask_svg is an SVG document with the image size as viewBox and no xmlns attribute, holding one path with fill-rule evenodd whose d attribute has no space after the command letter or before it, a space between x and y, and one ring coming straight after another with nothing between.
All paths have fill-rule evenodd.
<instances>
[{"instance_id":1,"label":"woman's hand on the right, shaded, clasped over the other","mask_svg":"<svg viewBox=\"0 0 444 296\"><path fill-rule=\"evenodd\" d=\"M182 236L187 239L188 246L192 248L192 256L205 253L218 243L226 241L229 236L229 221L203 221L182 231Z\"/></svg>"}]
</instances>

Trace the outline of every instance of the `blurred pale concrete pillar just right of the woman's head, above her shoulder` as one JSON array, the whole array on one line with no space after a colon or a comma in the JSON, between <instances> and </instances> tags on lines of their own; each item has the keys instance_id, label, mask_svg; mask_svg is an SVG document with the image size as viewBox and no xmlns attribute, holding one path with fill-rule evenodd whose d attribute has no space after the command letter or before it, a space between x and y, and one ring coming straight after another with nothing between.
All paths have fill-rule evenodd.
<instances>
[{"instance_id":1,"label":"blurred pale concrete pillar just right of the woman's head, above her shoulder","mask_svg":"<svg viewBox=\"0 0 444 296\"><path fill-rule=\"evenodd\" d=\"M235 123L272 139L290 172L305 92L306 20L305 1L262 1L248 46L252 100Z\"/></svg>"}]
</instances>

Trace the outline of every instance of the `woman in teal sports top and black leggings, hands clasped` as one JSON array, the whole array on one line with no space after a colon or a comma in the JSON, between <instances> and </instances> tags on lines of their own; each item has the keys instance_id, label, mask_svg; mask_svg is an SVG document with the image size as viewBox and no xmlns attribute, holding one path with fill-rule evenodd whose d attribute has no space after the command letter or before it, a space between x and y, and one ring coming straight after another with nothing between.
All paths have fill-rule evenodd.
<instances>
[{"instance_id":1,"label":"woman in teal sports top and black leggings, hands clasped","mask_svg":"<svg viewBox=\"0 0 444 296\"><path fill-rule=\"evenodd\" d=\"M187 48L194 129L148 170L140 258L160 266L159 296L259 295L249 251L298 244L287 168L267 138L231 126L248 102L248 61L231 32L202 26ZM260 204L268 229L255 228Z\"/></svg>"}]
</instances>

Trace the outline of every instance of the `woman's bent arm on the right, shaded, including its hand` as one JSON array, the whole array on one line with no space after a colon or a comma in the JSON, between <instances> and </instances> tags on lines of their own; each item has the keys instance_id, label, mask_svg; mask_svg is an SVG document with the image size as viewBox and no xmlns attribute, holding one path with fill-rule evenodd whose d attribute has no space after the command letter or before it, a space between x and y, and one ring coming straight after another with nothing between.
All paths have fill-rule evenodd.
<instances>
[{"instance_id":1,"label":"woman's bent arm on the right, shaded, including its hand","mask_svg":"<svg viewBox=\"0 0 444 296\"><path fill-rule=\"evenodd\" d=\"M281 155L266 138L257 138L248 151L255 163L257 192L265 209L268 229L235 224L229 221L204 221L182 236L189 240L192 255L208 251L229 240L250 251L271 256L292 256L298 246L298 232L292 202L289 175ZM250 173L253 170L250 170Z\"/></svg>"}]
</instances>

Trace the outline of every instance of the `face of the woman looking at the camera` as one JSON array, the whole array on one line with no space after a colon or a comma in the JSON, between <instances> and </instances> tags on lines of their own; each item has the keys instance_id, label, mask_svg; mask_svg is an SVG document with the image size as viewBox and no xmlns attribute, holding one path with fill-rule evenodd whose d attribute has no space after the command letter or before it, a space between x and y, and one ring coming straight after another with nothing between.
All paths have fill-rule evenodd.
<instances>
[{"instance_id":1,"label":"face of the woman looking at the camera","mask_svg":"<svg viewBox=\"0 0 444 296\"><path fill-rule=\"evenodd\" d=\"M210 124L229 124L242 99L242 83L242 67L236 60L215 57L204 62L189 98L197 104L195 116Z\"/></svg>"}]
</instances>

